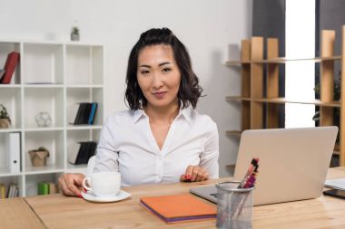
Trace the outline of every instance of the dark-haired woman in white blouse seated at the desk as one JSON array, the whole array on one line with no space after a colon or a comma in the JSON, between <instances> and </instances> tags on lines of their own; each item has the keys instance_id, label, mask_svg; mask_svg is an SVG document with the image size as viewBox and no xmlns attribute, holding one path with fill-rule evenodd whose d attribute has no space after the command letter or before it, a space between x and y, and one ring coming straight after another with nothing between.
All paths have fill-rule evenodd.
<instances>
[{"instance_id":1,"label":"dark-haired woman in white blouse seated at the desk","mask_svg":"<svg viewBox=\"0 0 345 229\"><path fill-rule=\"evenodd\" d=\"M94 172L119 171L122 186L218 177L217 126L194 110L202 88L186 48L169 29L142 33L126 84L130 110L105 121ZM81 196L83 178L64 174L59 186L65 195Z\"/></svg>"}]
</instances>

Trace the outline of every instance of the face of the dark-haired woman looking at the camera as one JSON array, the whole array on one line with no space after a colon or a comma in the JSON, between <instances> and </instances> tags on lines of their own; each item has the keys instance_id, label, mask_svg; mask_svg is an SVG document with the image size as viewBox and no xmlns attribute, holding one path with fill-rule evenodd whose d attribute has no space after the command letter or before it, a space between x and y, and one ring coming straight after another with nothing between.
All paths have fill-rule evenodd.
<instances>
[{"instance_id":1,"label":"face of the dark-haired woman looking at the camera","mask_svg":"<svg viewBox=\"0 0 345 229\"><path fill-rule=\"evenodd\" d=\"M181 73L171 45L150 45L139 52L137 80L148 106L167 107L178 102Z\"/></svg>"}]
</instances>

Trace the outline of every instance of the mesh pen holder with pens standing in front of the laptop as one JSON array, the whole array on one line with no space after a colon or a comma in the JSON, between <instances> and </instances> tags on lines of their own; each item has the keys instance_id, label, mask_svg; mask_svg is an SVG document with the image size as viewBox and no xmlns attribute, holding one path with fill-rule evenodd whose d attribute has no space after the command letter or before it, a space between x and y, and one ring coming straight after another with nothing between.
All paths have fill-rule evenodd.
<instances>
[{"instance_id":1,"label":"mesh pen holder with pens standing in front of the laptop","mask_svg":"<svg viewBox=\"0 0 345 229\"><path fill-rule=\"evenodd\" d=\"M217 228L252 228L252 191L258 173L259 158L251 160L251 166L241 182L218 183Z\"/></svg>"}]
</instances>

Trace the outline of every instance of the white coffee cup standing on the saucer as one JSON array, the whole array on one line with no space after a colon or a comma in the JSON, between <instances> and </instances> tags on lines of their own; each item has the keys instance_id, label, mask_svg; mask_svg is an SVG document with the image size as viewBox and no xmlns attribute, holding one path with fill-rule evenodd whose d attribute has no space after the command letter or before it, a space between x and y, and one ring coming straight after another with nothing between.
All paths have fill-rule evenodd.
<instances>
[{"instance_id":1,"label":"white coffee cup standing on the saucer","mask_svg":"<svg viewBox=\"0 0 345 229\"><path fill-rule=\"evenodd\" d=\"M86 181L90 186L86 186ZM118 172L99 172L84 177L83 186L87 191L92 191L95 196L115 196L121 187L121 175Z\"/></svg>"}]
</instances>

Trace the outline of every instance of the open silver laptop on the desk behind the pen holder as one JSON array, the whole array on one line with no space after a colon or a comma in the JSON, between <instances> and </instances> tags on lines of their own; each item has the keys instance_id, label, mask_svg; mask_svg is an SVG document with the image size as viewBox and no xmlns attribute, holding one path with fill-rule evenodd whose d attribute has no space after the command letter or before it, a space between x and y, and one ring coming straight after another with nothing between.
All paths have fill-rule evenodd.
<instances>
[{"instance_id":1,"label":"open silver laptop on the desk behind the pen holder","mask_svg":"<svg viewBox=\"0 0 345 229\"><path fill-rule=\"evenodd\" d=\"M253 157L259 173L254 205L268 205L321 196L338 127L251 129L242 132L234 180L241 181ZM215 186L190 192L217 202Z\"/></svg>"}]
</instances>

